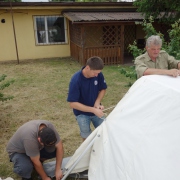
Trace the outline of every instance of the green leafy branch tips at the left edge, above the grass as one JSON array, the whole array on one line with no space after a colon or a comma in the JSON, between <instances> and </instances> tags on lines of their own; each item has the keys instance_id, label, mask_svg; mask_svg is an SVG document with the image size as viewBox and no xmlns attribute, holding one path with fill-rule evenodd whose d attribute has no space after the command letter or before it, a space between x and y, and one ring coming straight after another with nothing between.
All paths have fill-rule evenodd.
<instances>
[{"instance_id":1,"label":"green leafy branch tips at the left edge, above the grass","mask_svg":"<svg viewBox=\"0 0 180 180\"><path fill-rule=\"evenodd\" d=\"M7 76L5 74L0 76L0 83L4 81L6 77ZM14 98L13 96L4 95L4 93L2 92L6 87L10 86L10 84L12 84L13 82L14 80L9 80L0 84L0 101L3 102Z\"/></svg>"}]
</instances>

